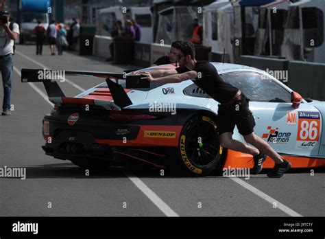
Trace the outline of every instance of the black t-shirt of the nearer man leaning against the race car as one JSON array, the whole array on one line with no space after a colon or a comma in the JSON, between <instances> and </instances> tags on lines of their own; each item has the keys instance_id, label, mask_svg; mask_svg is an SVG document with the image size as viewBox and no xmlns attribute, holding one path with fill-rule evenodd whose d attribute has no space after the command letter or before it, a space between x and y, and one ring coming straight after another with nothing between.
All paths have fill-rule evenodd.
<instances>
[{"instance_id":1,"label":"black t-shirt of the nearer man leaning against the race car","mask_svg":"<svg viewBox=\"0 0 325 239\"><path fill-rule=\"evenodd\" d=\"M176 71L184 73L190 70L186 67L178 67ZM193 82L217 102L221 104L229 102L236 95L238 89L225 82L210 62L197 61L193 71L199 74Z\"/></svg>"}]
</instances>

